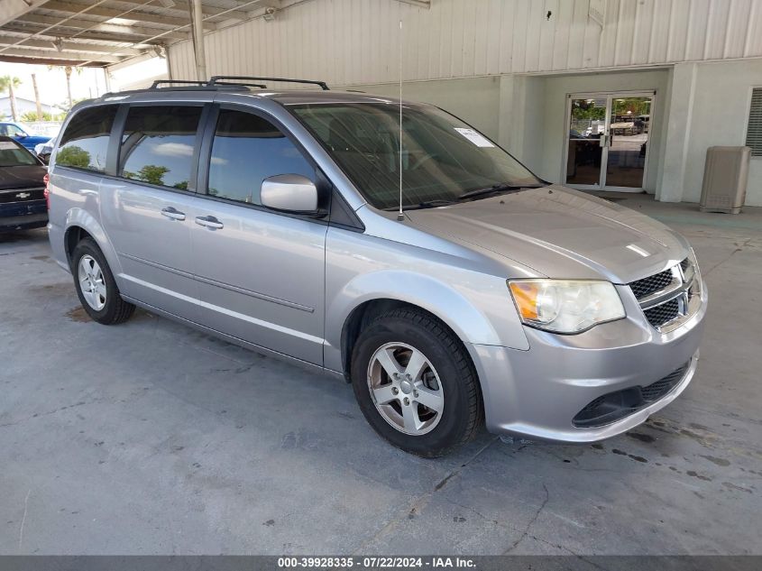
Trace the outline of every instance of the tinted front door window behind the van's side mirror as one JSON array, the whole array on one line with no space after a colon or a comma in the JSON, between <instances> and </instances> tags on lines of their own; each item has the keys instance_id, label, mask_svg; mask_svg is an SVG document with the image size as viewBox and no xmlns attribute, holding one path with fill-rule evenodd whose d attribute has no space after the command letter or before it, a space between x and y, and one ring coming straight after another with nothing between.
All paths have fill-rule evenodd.
<instances>
[{"instance_id":1,"label":"tinted front door window behind the van's side mirror","mask_svg":"<svg viewBox=\"0 0 762 571\"><path fill-rule=\"evenodd\" d=\"M277 174L315 180L315 169L278 127L250 113L220 111L209 165L209 194L260 204L262 180Z\"/></svg>"}]
</instances>

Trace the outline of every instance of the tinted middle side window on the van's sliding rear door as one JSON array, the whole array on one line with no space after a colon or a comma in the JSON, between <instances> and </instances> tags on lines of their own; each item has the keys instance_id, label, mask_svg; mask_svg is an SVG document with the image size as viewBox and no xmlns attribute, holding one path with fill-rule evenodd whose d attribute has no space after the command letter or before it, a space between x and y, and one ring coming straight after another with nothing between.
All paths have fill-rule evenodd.
<instances>
[{"instance_id":1,"label":"tinted middle side window on the van's sliding rear door","mask_svg":"<svg viewBox=\"0 0 762 571\"><path fill-rule=\"evenodd\" d=\"M131 107L124 124L120 176L188 189L201 107Z\"/></svg>"}]
</instances>

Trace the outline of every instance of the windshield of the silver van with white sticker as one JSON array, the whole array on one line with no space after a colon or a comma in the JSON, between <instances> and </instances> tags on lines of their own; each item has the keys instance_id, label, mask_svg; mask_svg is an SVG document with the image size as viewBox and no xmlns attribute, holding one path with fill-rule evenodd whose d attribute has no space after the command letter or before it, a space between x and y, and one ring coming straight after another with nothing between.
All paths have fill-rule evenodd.
<instances>
[{"instance_id":1,"label":"windshield of the silver van with white sticker","mask_svg":"<svg viewBox=\"0 0 762 571\"><path fill-rule=\"evenodd\" d=\"M399 105L314 104L289 109L374 207L399 206ZM454 201L466 192L496 185L543 185L510 154L436 107L404 106L402 132L403 207Z\"/></svg>"}]
</instances>

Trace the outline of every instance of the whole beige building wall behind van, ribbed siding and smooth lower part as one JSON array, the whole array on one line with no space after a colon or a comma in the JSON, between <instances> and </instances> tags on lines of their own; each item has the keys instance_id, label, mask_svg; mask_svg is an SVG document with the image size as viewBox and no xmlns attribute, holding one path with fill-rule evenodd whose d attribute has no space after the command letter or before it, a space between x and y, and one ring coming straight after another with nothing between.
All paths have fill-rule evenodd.
<instances>
[{"instance_id":1,"label":"whole beige building wall behind van, ribbed siding and smooth lower part","mask_svg":"<svg viewBox=\"0 0 762 571\"><path fill-rule=\"evenodd\" d=\"M273 22L208 33L208 75L396 97L401 19L404 97L461 116L547 180L563 180L568 93L655 89L645 189L698 201L706 148L743 143L750 89L762 87L760 0L606 0L602 27L590 0L282 4ZM170 46L169 63L172 78L196 77L189 41ZM760 159L747 204L762 205Z\"/></svg>"}]
</instances>

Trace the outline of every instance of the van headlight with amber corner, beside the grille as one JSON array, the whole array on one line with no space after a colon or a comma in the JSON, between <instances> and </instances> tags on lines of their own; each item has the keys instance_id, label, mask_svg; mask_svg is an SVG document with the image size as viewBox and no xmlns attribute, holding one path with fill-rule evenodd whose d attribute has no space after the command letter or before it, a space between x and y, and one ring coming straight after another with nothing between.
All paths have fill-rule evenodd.
<instances>
[{"instance_id":1,"label":"van headlight with amber corner, beside the grille","mask_svg":"<svg viewBox=\"0 0 762 571\"><path fill-rule=\"evenodd\" d=\"M610 281L510 280L508 285L521 321L538 329L581 333L626 315Z\"/></svg>"}]
</instances>

